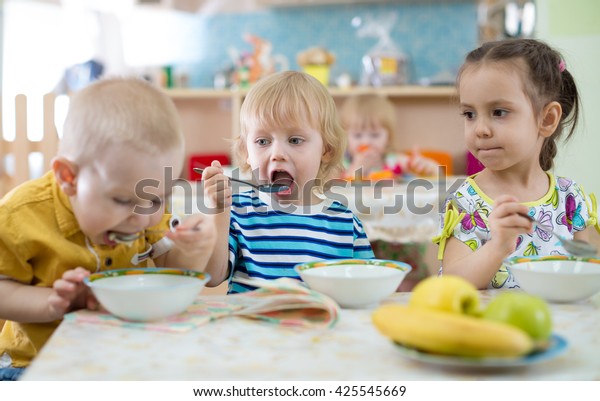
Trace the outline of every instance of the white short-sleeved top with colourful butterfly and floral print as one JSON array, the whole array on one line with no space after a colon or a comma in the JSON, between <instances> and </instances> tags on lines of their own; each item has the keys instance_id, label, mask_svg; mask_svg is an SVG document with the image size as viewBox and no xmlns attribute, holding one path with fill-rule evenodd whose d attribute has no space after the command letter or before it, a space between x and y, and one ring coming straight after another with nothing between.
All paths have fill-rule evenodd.
<instances>
[{"instance_id":1,"label":"white short-sleeved top with colourful butterfly and floral print","mask_svg":"<svg viewBox=\"0 0 600 401\"><path fill-rule=\"evenodd\" d=\"M433 240L440 246L439 259L442 259L446 240L450 236L459 239L473 251L491 238L487 217L494 202L477 186L473 180L475 176L467 178L456 192L446 199L444 213L440 219L440 234ZM548 192L537 201L525 203L529 206L529 215L565 238L573 238L573 233L582 231L587 226L596 226L600 232L594 195L588 199L581 187L569 178L555 177L550 173L548 177ZM450 202L452 198L455 199L454 205ZM532 255L567 255L567 252L560 241L534 226L533 233L519 235L515 251L510 257ZM440 274L442 272L443 266L440 268ZM518 288L519 285L504 264L488 285L488 288L515 287Z\"/></svg>"}]
</instances>

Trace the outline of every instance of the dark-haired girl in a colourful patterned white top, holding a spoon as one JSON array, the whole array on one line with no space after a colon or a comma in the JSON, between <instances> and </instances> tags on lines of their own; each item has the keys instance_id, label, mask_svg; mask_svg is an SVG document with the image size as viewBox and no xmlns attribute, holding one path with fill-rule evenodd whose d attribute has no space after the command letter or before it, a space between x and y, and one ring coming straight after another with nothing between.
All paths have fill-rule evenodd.
<instances>
[{"instance_id":1,"label":"dark-haired girl in a colourful patterned white top, holding a spoon","mask_svg":"<svg viewBox=\"0 0 600 401\"><path fill-rule=\"evenodd\" d=\"M579 95L561 55L543 42L489 42L467 55L458 74L468 150L485 169L447 200L441 274L478 288L518 287L503 261L512 256L566 254L528 214L566 238L588 240L598 224L596 201L573 180L550 170L556 141L572 136ZM595 235L595 234L594 234Z\"/></svg>"}]
</instances>

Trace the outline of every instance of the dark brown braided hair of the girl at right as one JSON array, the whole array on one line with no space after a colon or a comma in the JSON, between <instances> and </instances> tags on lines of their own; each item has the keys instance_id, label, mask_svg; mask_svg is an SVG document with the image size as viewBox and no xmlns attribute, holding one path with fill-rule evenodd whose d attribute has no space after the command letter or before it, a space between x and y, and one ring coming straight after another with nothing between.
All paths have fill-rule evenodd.
<instances>
[{"instance_id":1,"label":"dark brown braided hair of the girl at right","mask_svg":"<svg viewBox=\"0 0 600 401\"><path fill-rule=\"evenodd\" d=\"M508 39L484 43L471 51L458 73L457 83L464 70L474 64L494 61L524 61L528 69L524 71L525 93L533 109L540 113L550 102L557 101L562 107L562 116L556 131L544 140L540 152L540 166L544 171L552 168L556 156L556 141L563 130L570 126L565 140L571 138L579 118L579 93L575 80L566 69L561 54L546 43L535 39Z\"/></svg>"}]
</instances>

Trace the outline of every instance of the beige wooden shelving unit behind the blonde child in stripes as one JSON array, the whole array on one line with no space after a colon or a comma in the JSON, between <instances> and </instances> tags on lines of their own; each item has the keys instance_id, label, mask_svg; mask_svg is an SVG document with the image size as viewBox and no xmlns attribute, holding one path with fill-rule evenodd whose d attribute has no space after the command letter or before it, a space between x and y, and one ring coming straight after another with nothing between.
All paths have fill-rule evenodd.
<instances>
[{"instance_id":1,"label":"beige wooden shelving unit behind the blonde child in stripes","mask_svg":"<svg viewBox=\"0 0 600 401\"><path fill-rule=\"evenodd\" d=\"M187 156L230 153L230 139L239 132L239 110L247 90L170 89L166 91L179 110L186 136ZM413 145L450 152L455 173L465 170L466 147L456 91L451 86L393 86L331 88L340 105L346 97L378 93L387 96L398 112L398 150Z\"/></svg>"}]
</instances>

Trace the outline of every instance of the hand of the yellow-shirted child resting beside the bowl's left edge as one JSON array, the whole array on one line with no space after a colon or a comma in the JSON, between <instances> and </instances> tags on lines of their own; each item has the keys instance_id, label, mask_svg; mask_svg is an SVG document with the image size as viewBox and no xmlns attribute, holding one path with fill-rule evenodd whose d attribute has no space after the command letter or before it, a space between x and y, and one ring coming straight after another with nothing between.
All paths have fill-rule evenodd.
<instances>
[{"instance_id":1,"label":"hand of the yellow-shirted child resting beside the bowl's left edge","mask_svg":"<svg viewBox=\"0 0 600 401\"><path fill-rule=\"evenodd\" d=\"M98 309L98 301L92 291L83 284L83 279L90 272L82 267L67 270L52 285L52 293L48 297L48 308L52 320L62 318L65 313L82 308Z\"/></svg>"}]
</instances>

